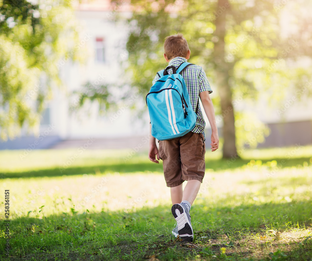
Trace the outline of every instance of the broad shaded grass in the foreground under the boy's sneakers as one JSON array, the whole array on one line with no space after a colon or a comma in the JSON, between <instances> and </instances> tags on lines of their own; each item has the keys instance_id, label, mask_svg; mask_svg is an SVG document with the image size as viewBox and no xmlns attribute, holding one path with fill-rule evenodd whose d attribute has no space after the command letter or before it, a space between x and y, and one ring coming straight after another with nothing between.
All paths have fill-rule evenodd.
<instances>
[{"instance_id":1,"label":"broad shaded grass in the foreground under the boy's sneakers","mask_svg":"<svg viewBox=\"0 0 312 261\"><path fill-rule=\"evenodd\" d=\"M38 260L56 260L56 257L80 261L148 260L153 256L159 260L198 260L198 254L205 260L216 260L213 255L217 260L224 260L220 254L222 247L227 249L227 260L268 260L270 252L277 253L273 260L286 260L283 255L288 256L287 260L309 260L312 244L304 242L306 236L302 233L296 239L267 239L267 242L261 241L259 235L270 230L293 232L296 227L307 230L311 225L307 219L311 202L236 207L223 206L222 202L215 206L194 205L194 245L182 244L171 235L174 219L169 205L144 207L130 213L91 211L43 219L23 217L10 223L10 260L23 261L31 257ZM3 254L3 240L0 240L0 254ZM206 253L200 253L204 249Z\"/></svg>"}]
</instances>

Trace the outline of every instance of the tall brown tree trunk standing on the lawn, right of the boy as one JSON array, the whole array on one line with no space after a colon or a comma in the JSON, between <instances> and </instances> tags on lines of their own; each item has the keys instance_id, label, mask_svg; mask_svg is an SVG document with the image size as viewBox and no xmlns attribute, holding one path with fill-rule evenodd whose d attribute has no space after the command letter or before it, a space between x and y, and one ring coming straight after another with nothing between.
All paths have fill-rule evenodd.
<instances>
[{"instance_id":1,"label":"tall brown tree trunk standing on the lawn, right of the boy","mask_svg":"<svg viewBox=\"0 0 312 261\"><path fill-rule=\"evenodd\" d=\"M230 11L230 4L228 0L218 0L218 6L215 12L216 16L216 31L217 38L214 39L214 61L216 65L217 87L221 99L221 109L223 118L223 158L237 158L236 144L235 144L235 120L232 105L232 90L229 86L228 71L232 68L229 63L225 61L225 42L226 35L226 14Z\"/></svg>"}]
</instances>

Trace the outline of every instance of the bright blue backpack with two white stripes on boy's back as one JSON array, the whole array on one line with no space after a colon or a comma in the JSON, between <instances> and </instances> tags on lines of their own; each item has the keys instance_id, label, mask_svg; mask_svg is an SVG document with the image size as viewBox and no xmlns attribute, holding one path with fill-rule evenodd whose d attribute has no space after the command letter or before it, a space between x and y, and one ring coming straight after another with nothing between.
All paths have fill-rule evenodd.
<instances>
[{"instance_id":1,"label":"bright blue backpack with two white stripes on boy's back","mask_svg":"<svg viewBox=\"0 0 312 261\"><path fill-rule=\"evenodd\" d=\"M146 95L146 104L152 124L152 136L158 140L169 140L181 137L190 132L196 124L196 113L193 111L188 90L181 72L189 65L183 62L176 69L173 65L157 74L159 80ZM173 70L168 74L167 70Z\"/></svg>"}]
</instances>

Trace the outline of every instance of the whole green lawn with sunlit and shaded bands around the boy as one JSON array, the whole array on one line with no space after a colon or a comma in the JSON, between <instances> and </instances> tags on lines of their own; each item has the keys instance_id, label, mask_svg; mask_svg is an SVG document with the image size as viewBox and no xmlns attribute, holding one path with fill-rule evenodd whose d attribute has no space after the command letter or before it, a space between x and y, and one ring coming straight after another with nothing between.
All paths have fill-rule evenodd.
<instances>
[{"instance_id":1,"label":"whole green lawn with sunlit and shaded bands around the boy","mask_svg":"<svg viewBox=\"0 0 312 261\"><path fill-rule=\"evenodd\" d=\"M67 165L75 150L21 153L0 152L0 260L312 259L312 147L207 152L188 245L171 236L170 191L146 153L86 150Z\"/></svg>"}]
</instances>

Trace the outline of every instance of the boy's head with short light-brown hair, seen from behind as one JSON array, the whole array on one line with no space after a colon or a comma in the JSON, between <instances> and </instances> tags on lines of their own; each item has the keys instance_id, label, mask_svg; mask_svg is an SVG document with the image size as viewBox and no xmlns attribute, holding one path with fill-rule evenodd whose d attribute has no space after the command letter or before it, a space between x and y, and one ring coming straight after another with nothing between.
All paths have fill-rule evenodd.
<instances>
[{"instance_id":1,"label":"boy's head with short light-brown hair, seen from behind","mask_svg":"<svg viewBox=\"0 0 312 261\"><path fill-rule=\"evenodd\" d=\"M188 42L185 40L182 34L176 34L167 36L163 45L165 51L164 57L167 60L171 60L175 57L184 57L189 59L190 49L188 48Z\"/></svg>"}]
</instances>

